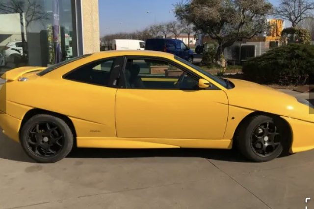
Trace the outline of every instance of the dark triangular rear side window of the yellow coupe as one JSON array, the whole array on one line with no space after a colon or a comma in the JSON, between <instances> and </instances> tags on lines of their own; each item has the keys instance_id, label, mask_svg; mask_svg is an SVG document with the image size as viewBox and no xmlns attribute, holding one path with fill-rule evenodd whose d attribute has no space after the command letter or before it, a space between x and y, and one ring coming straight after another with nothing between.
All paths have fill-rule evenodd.
<instances>
[{"instance_id":1,"label":"dark triangular rear side window of the yellow coupe","mask_svg":"<svg viewBox=\"0 0 314 209\"><path fill-rule=\"evenodd\" d=\"M87 64L68 73L64 79L87 84L108 85L114 61L115 59L110 59Z\"/></svg>"}]
</instances>

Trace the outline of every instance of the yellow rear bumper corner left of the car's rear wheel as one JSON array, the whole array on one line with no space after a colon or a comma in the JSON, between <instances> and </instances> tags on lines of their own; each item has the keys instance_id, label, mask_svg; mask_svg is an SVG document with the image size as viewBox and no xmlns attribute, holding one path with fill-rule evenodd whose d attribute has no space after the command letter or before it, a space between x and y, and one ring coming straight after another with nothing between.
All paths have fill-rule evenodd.
<instances>
[{"instance_id":1,"label":"yellow rear bumper corner left of the car's rear wheel","mask_svg":"<svg viewBox=\"0 0 314 209\"><path fill-rule=\"evenodd\" d=\"M16 142L19 142L20 125L21 120L0 112L0 127L2 128L2 132Z\"/></svg>"}]
</instances>

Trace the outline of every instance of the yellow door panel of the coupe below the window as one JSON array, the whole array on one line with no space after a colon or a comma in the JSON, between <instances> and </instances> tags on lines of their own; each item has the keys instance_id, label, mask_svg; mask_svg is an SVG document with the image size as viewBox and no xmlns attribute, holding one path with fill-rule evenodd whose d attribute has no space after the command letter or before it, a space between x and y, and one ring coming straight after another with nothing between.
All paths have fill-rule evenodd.
<instances>
[{"instance_id":1,"label":"yellow door panel of the coupe below the window","mask_svg":"<svg viewBox=\"0 0 314 209\"><path fill-rule=\"evenodd\" d=\"M227 95L220 90L119 89L116 96L122 138L222 139L227 117Z\"/></svg>"}]
</instances>

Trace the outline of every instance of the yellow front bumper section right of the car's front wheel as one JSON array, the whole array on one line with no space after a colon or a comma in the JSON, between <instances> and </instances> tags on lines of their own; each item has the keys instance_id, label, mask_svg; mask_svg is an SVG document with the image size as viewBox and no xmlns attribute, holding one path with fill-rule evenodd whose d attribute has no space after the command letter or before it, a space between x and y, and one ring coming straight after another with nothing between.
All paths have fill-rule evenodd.
<instances>
[{"instance_id":1,"label":"yellow front bumper section right of the car's front wheel","mask_svg":"<svg viewBox=\"0 0 314 209\"><path fill-rule=\"evenodd\" d=\"M292 145L290 153L314 149L314 123L293 118L284 118L292 130Z\"/></svg>"}]
</instances>

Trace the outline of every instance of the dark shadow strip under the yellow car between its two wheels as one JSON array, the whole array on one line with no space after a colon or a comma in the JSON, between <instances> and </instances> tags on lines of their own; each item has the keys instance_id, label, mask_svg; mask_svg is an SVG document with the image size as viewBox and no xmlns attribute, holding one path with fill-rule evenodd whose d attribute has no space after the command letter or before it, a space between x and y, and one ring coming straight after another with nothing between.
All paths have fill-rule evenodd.
<instances>
[{"instance_id":1,"label":"dark shadow strip under the yellow car between its two wheels","mask_svg":"<svg viewBox=\"0 0 314 209\"><path fill-rule=\"evenodd\" d=\"M228 162L250 162L236 150L225 149L99 149L75 148L68 158L145 158L145 157L201 157Z\"/></svg>"}]
</instances>

